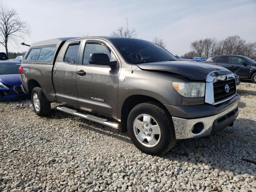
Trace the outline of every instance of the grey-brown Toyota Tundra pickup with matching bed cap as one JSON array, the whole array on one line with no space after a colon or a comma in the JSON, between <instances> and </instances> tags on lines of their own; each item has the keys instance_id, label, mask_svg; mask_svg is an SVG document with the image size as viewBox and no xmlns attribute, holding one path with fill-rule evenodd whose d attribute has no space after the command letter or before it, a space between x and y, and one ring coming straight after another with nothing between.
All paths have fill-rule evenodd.
<instances>
[{"instance_id":1,"label":"grey-brown Toyota Tundra pickup with matching bed cap","mask_svg":"<svg viewBox=\"0 0 256 192\"><path fill-rule=\"evenodd\" d=\"M142 152L161 155L176 140L210 136L238 116L234 74L179 61L145 40L57 38L33 43L20 67L39 116L62 112L128 131Z\"/></svg>"}]
</instances>

